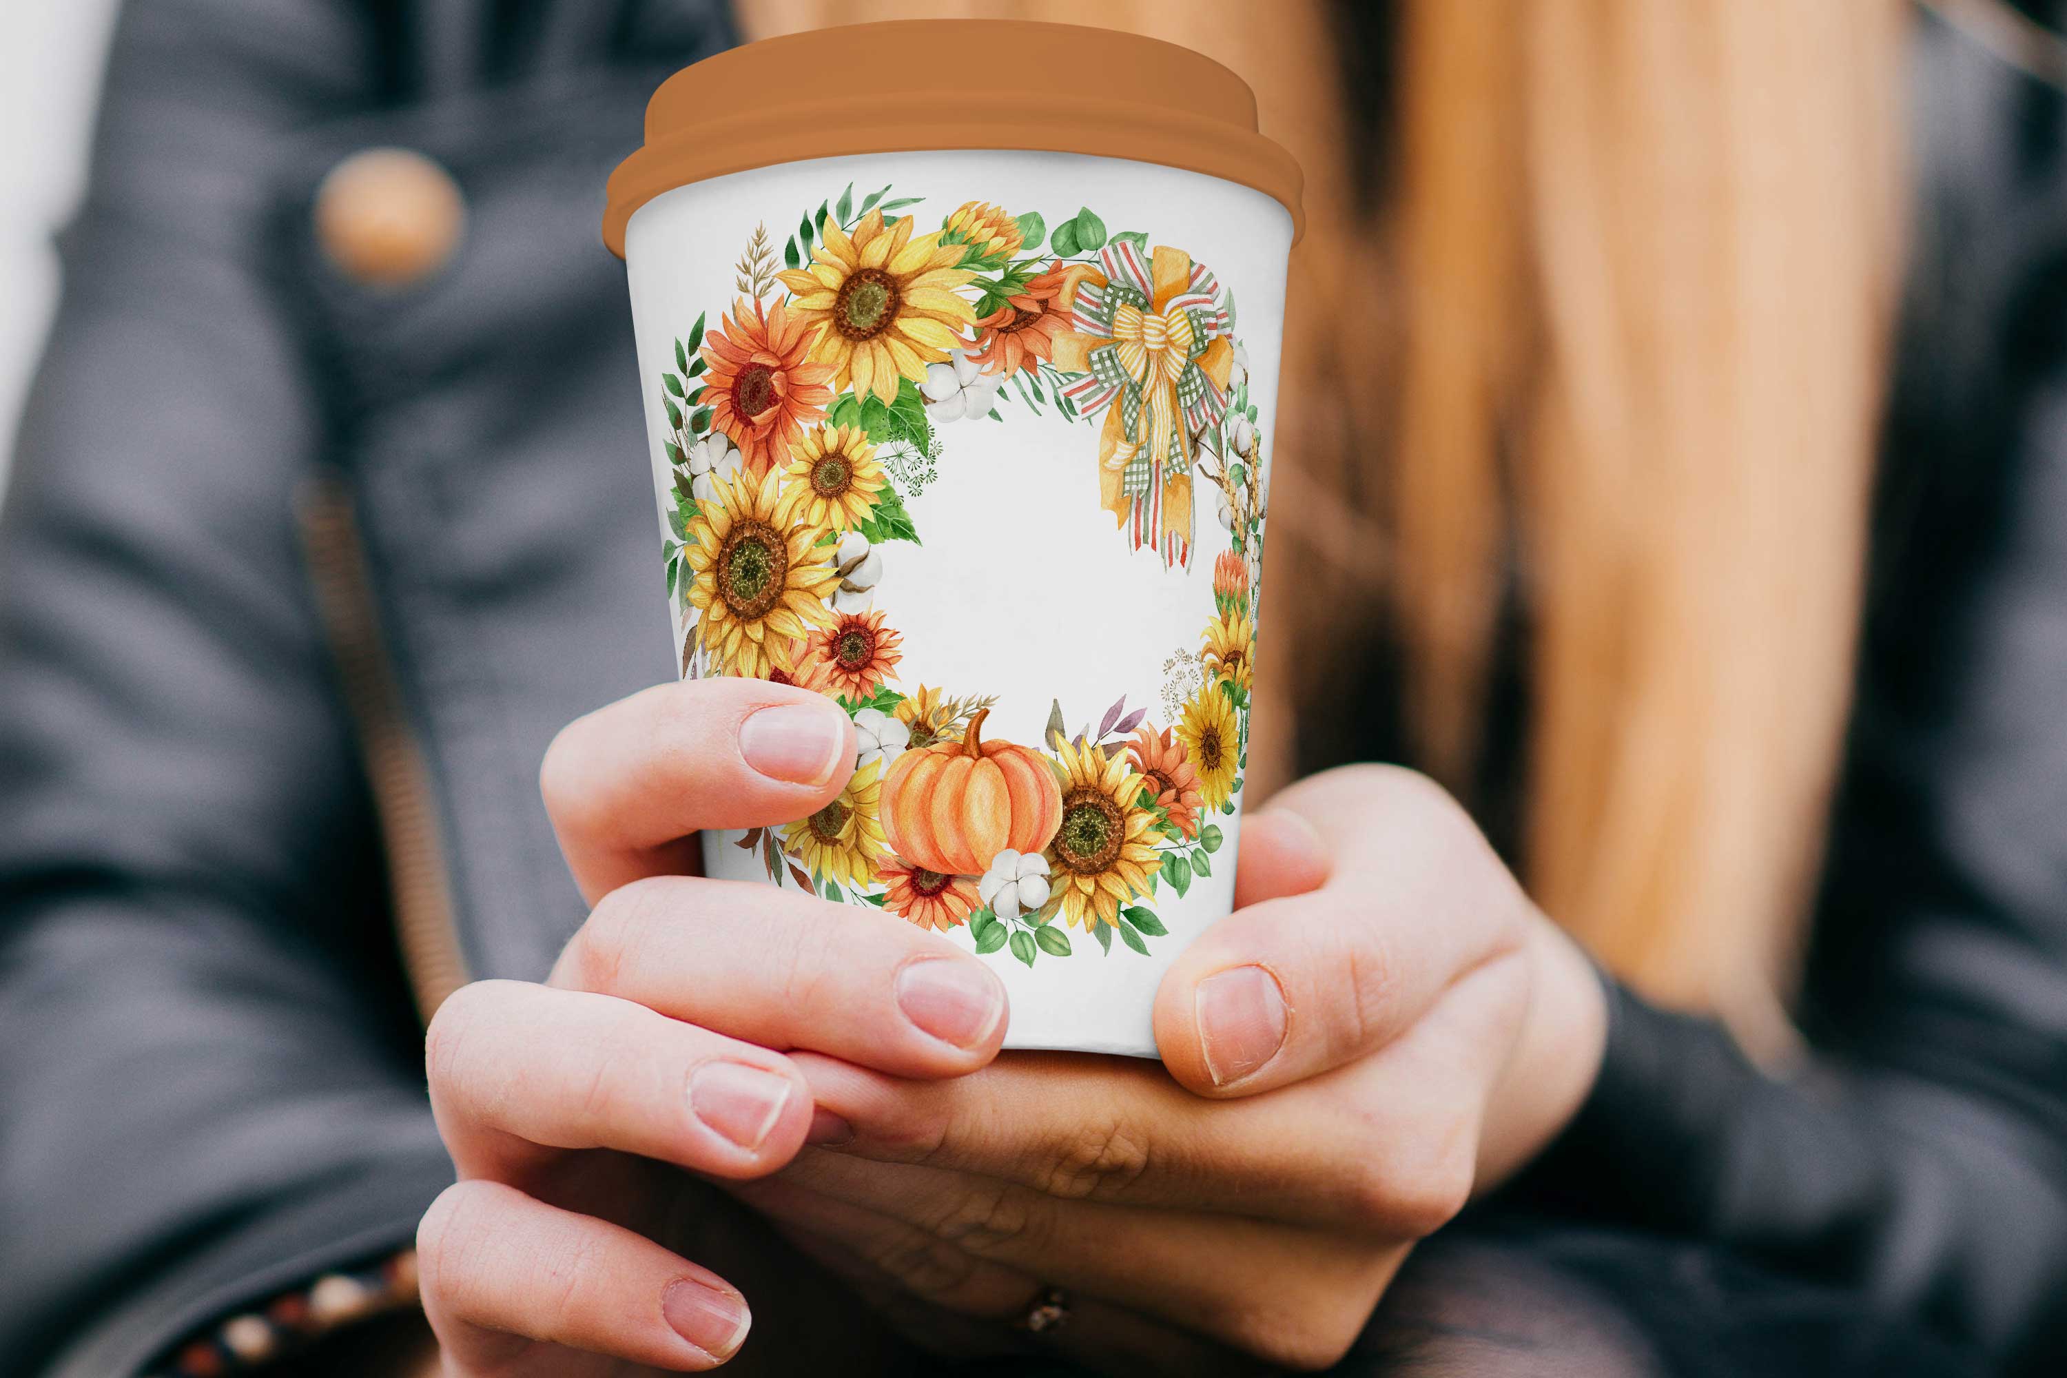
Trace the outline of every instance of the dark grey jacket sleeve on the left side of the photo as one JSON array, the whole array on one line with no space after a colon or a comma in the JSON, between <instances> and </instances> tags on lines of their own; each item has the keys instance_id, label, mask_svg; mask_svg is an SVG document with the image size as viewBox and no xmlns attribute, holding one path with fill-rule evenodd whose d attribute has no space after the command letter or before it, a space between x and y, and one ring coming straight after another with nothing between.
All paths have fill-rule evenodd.
<instances>
[{"instance_id":1,"label":"dark grey jacket sleeve on the left side of the photo","mask_svg":"<svg viewBox=\"0 0 2067 1378\"><path fill-rule=\"evenodd\" d=\"M132 1374L405 1244L451 1173L296 552L322 417L265 248L277 136L366 81L347 8L132 4L62 244L0 519L10 1374Z\"/></svg>"}]
</instances>

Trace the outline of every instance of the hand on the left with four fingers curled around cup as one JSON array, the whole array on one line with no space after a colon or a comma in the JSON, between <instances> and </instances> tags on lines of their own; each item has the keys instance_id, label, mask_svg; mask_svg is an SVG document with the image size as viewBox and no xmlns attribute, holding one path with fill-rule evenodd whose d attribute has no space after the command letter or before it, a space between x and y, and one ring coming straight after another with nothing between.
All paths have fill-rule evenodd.
<instances>
[{"instance_id":1,"label":"hand on the left with four fingers curled around cup","mask_svg":"<svg viewBox=\"0 0 2067 1378\"><path fill-rule=\"evenodd\" d=\"M699 828L806 818L852 764L837 704L759 680L659 686L552 744L546 804L593 913L544 983L475 981L428 1037L459 1182L418 1254L449 1378L723 1364L746 1302L676 1248L707 1215L692 1173L759 1178L810 1136L785 1054L903 1078L996 1054L1005 988L947 938L692 878Z\"/></svg>"}]
</instances>

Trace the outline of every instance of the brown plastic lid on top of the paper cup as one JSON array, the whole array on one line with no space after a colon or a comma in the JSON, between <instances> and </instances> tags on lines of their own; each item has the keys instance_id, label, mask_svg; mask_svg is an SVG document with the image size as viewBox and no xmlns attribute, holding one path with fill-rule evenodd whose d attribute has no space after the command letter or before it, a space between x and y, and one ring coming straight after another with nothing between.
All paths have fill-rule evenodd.
<instances>
[{"instance_id":1,"label":"brown plastic lid on top of the paper cup","mask_svg":"<svg viewBox=\"0 0 2067 1378\"><path fill-rule=\"evenodd\" d=\"M1306 229L1298 163L1211 58L1135 33L909 19L763 39L686 66L647 101L645 147L610 174L604 244L690 182L850 153L1036 149L1164 163L1251 186Z\"/></svg>"}]
</instances>

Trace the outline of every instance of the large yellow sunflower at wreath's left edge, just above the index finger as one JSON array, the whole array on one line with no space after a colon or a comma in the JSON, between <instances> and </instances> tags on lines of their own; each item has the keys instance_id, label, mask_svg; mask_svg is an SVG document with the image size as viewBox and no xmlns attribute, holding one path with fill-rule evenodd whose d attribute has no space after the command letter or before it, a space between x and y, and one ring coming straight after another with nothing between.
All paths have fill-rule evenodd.
<instances>
[{"instance_id":1,"label":"large yellow sunflower at wreath's left edge, just above the index finger","mask_svg":"<svg viewBox=\"0 0 2067 1378\"><path fill-rule=\"evenodd\" d=\"M779 512L781 469L754 479L711 475L715 498L688 523L688 601L697 638L719 671L769 678L796 669L794 643L833 624L825 599L839 570L819 545L825 527L790 525Z\"/></svg>"}]
</instances>

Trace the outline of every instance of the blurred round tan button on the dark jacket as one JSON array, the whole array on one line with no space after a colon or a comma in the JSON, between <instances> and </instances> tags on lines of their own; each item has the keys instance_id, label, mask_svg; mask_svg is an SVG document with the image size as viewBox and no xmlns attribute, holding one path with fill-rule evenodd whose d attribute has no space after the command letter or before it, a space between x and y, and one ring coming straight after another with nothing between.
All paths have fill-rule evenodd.
<instances>
[{"instance_id":1,"label":"blurred round tan button on the dark jacket","mask_svg":"<svg viewBox=\"0 0 2067 1378\"><path fill-rule=\"evenodd\" d=\"M368 287L424 281L453 258L465 229L459 184L409 149L353 153L316 188L316 242Z\"/></svg>"}]
</instances>

